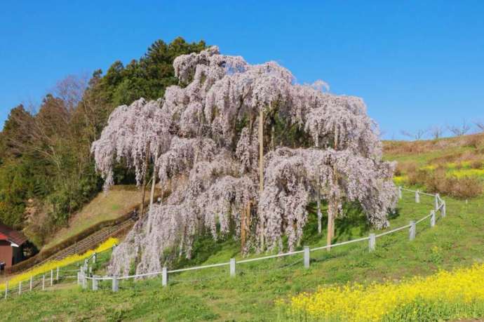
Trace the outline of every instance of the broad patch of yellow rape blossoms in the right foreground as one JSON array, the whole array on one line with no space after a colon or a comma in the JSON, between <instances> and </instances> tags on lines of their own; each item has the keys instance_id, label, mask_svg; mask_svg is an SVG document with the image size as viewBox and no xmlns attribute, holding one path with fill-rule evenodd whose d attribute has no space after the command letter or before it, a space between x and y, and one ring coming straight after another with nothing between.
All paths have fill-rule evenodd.
<instances>
[{"instance_id":1,"label":"broad patch of yellow rape blossoms in the right foreground","mask_svg":"<svg viewBox=\"0 0 484 322\"><path fill-rule=\"evenodd\" d=\"M473 317L484 309L484 264L400 283L324 286L279 305L297 321L424 321L434 310Z\"/></svg>"}]
</instances>

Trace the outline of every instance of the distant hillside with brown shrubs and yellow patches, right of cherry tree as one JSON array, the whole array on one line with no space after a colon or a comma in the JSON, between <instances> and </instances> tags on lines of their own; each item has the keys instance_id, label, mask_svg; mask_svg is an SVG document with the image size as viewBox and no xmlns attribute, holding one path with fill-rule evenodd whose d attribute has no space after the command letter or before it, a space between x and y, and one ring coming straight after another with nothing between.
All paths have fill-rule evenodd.
<instances>
[{"instance_id":1,"label":"distant hillside with brown shrubs and yellow patches, right of cherry tree","mask_svg":"<svg viewBox=\"0 0 484 322\"><path fill-rule=\"evenodd\" d=\"M426 141L387 141L384 156L398 161L396 182L459 199L483 193L484 133Z\"/></svg>"}]
</instances>

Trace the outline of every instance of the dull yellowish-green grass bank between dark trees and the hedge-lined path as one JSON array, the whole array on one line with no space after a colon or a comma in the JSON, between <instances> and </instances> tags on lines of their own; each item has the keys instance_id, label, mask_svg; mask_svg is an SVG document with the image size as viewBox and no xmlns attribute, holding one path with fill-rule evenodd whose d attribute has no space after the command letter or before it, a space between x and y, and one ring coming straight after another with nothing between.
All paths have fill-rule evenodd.
<instances>
[{"instance_id":1,"label":"dull yellowish-green grass bank between dark trees and the hedge-lined path","mask_svg":"<svg viewBox=\"0 0 484 322\"><path fill-rule=\"evenodd\" d=\"M100 192L79 213L73 215L67 227L54 234L43 249L52 248L100 222L115 220L126 215L140 204L140 200L140 190L135 186L117 185L107 193ZM145 195L145 201L147 200L149 200L149 194Z\"/></svg>"}]
</instances>

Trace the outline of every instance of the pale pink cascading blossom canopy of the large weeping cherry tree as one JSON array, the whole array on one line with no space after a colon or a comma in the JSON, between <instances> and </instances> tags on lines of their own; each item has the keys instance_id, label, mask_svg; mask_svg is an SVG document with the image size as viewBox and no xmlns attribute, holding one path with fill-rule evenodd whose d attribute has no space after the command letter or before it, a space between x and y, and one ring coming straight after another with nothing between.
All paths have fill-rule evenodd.
<instances>
[{"instance_id":1,"label":"pale pink cascading blossom canopy of the large weeping cherry tree","mask_svg":"<svg viewBox=\"0 0 484 322\"><path fill-rule=\"evenodd\" d=\"M208 229L214 239L241 234L250 204L250 241L258 250L293 249L307 222L307 205L332 200L341 213L344 201L358 201L368 220L386 227L394 208L394 165L382 161L377 126L363 101L322 91L328 86L299 85L276 62L250 65L239 56L220 55L217 47L182 55L173 63L180 86L166 89L163 100L137 100L118 107L93 152L106 186L114 161L126 158L137 180L146 156L161 189L169 192L126 241L116 248L109 271L156 271L166 250L191 256L196 236ZM259 124L264 142L264 182L259 191ZM270 117L297 126L311 142L304 147L269 149ZM259 236L263 237L261 239Z\"/></svg>"}]
</instances>

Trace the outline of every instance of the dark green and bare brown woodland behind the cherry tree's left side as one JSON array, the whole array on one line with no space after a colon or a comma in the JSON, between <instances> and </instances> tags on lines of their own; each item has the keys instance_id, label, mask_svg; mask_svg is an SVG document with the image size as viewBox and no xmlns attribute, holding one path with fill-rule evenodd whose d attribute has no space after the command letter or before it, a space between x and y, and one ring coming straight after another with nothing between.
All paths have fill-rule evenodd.
<instances>
[{"instance_id":1,"label":"dark green and bare brown woodland behind the cherry tree's left side","mask_svg":"<svg viewBox=\"0 0 484 322\"><path fill-rule=\"evenodd\" d=\"M116 61L90 77L67 76L39 106L13 107L0 132L0 222L43 245L102 189L90 146L109 114L139 98L163 97L178 83L173 60L204 48L204 41L158 40L139 60ZM114 180L134 183L135 173L120 164Z\"/></svg>"}]
</instances>

